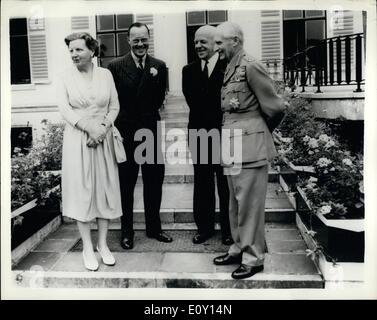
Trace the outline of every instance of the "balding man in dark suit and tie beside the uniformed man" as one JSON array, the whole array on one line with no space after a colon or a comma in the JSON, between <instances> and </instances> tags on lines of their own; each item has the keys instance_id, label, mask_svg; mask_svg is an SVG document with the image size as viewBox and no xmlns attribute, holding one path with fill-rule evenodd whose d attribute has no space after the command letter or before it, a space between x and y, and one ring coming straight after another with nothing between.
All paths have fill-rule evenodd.
<instances>
[{"instance_id":1,"label":"balding man in dark suit and tie beside the uniformed man","mask_svg":"<svg viewBox=\"0 0 377 320\"><path fill-rule=\"evenodd\" d=\"M230 245L233 240L229 227L228 185L219 163L220 157L212 157L213 151L215 155L220 155L220 91L226 67L226 62L220 61L218 54L214 52L215 30L215 27L206 25L196 31L194 42L199 59L183 68L182 89L190 108L189 131L196 129L218 134L217 141L208 139L208 147L203 145L205 142L202 139L189 134L189 147L194 163L194 218L198 228L193 243L203 243L214 233L216 177L222 241ZM204 158L203 151L206 153Z\"/></svg>"}]
</instances>

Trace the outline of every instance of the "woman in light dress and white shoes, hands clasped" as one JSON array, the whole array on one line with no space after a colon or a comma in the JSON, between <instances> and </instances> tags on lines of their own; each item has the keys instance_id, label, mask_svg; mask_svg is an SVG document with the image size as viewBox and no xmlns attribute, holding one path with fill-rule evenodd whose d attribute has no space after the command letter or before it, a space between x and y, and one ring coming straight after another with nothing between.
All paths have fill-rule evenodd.
<instances>
[{"instance_id":1,"label":"woman in light dress and white shoes, hands clasped","mask_svg":"<svg viewBox=\"0 0 377 320\"><path fill-rule=\"evenodd\" d=\"M97 251L106 265L115 259L107 246L110 219L122 215L112 123L119 113L118 95L107 69L92 63L98 42L90 34L64 39L73 65L60 78L59 110L67 124L63 139L63 215L77 220L87 269L96 271L90 222L98 224Z\"/></svg>"}]
</instances>

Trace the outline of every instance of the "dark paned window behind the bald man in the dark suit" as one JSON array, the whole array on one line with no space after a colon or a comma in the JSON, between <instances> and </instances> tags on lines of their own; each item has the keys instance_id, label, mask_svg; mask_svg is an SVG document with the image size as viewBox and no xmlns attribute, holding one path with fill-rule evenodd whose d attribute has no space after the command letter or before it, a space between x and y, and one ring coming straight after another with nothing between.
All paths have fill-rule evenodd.
<instances>
[{"instance_id":1,"label":"dark paned window behind the bald man in the dark suit","mask_svg":"<svg viewBox=\"0 0 377 320\"><path fill-rule=\"evenodd\" d=\"M187 25L187 59L188 63L197 59L194 46L195 32L201 26L210 24L217 26L228 20L227 11L190 11L186 13Z\"/></svg>"}]
</instances>

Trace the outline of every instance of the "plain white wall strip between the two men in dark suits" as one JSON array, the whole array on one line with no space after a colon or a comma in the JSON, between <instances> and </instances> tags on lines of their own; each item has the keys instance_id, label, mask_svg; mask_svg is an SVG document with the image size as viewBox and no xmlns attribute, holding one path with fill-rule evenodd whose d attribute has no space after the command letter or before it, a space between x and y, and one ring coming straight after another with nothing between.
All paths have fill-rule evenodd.
<instances>
[{"instance_id":1,"label":"plain white wall strip between the two men in dark suits","mask_svg":"<svg viewBox=\"0 0 377 320\"><path fill-rule=\"evenodd\" d=\"M182 68L187 64L185 13L154 16L155 56L169 68L170 94L182 94Z\"/></svg>"}]
</instances>

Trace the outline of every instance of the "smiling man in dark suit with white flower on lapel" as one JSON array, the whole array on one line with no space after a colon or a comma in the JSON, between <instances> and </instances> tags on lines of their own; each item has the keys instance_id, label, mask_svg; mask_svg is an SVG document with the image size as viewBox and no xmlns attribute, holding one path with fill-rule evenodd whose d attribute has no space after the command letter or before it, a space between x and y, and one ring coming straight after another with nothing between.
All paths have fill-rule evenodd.
<instances>
[{"instance_id":1,"label":"smiling man in dark suit with white flower on lapel","mask_svg":"<svg viewBox=\"0 0 377 320\"><path fill-rule=\"evenodd\" d=\"M127 154L127 161L119 164L123 208L121 245L124 249L132 249L134 245L133 204L139 167L143 177L146 234L161 242L172 241L161 230L160 206L165 166L163 161L159 163L163 157L157 143L160 138L157 125L161 119L159 109L166 90L166 65L148 55L150 34L145 24L132 24L128 29L128 38L131 52L108 66L114 77L120 104L115 125L124 138ZM140 129L150 130L153 134L154 143L147 145L149 150L146 150L154 151L152 163L140 163L134 157L135 150L142 143L135 141L135 133Z\"/></svg>"}]
</instances>

